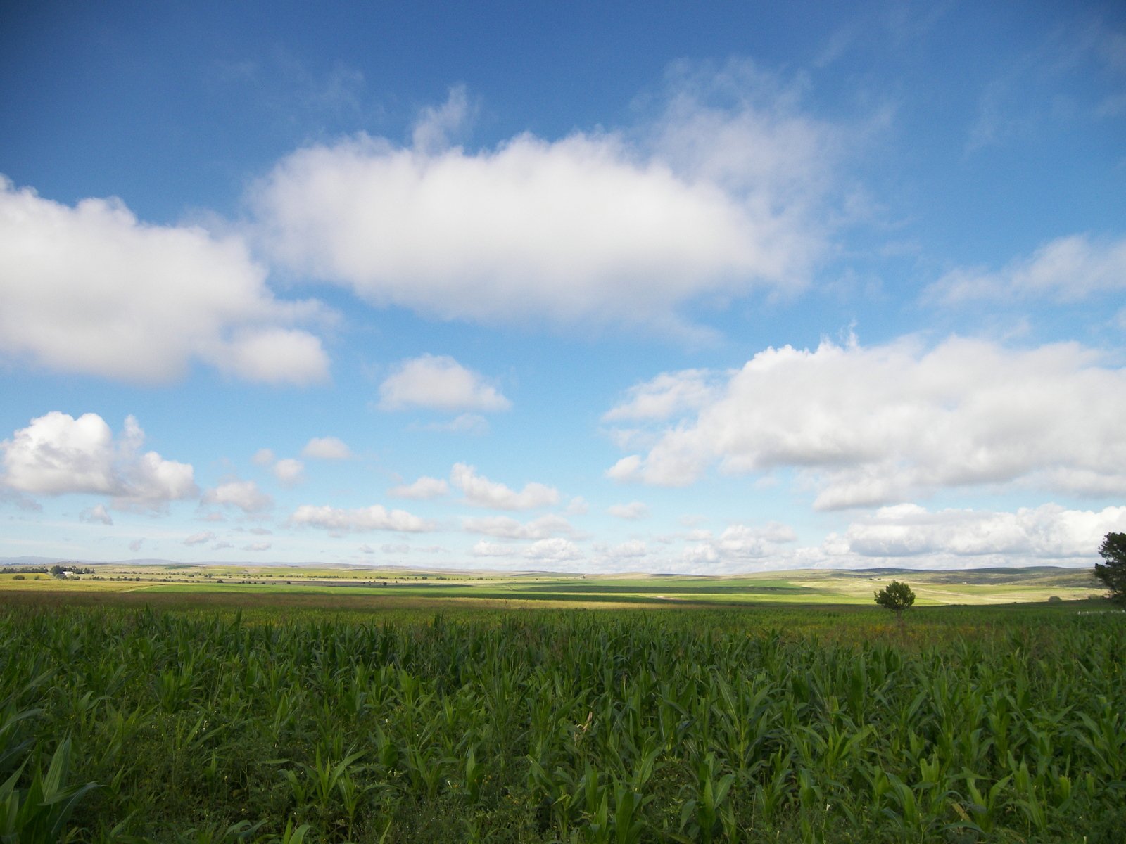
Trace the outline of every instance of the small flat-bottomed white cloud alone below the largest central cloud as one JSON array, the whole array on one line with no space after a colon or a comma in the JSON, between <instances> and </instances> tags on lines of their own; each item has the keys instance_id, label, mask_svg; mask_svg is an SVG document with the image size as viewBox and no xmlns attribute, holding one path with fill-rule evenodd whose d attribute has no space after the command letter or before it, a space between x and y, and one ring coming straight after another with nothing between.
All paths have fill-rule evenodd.
<instances>
[{"instance_id":1,"label":"small flat-bottomed white cloud alone below the largest central cloud","mask_svg":"<svg viewBox=\"0 0 1126 844\"><path fill-rule=\"evenodd\" d=\"M379 407L401 411L507 411L512 406L480 374L449 357L423 354L402 361L379 385Z\"/></svg>"}]
</instances>

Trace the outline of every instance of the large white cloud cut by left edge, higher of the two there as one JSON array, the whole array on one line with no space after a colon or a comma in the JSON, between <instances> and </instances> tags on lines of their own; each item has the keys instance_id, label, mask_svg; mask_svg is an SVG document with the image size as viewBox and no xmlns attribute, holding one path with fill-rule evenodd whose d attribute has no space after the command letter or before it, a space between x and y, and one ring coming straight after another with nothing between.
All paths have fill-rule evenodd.
<instances>
[{"instance_id":1,"label":"large white cloud cut by left edge, higher of the two there","mask_svg":"<svg viewBox=\"0 0 1126 844\"><path fill-rule=\"evenodd\" d=\"M279 302L243 242L146 225L118 199L70 207L0 176L0 353L62 372L169 381L203 361L249 380L328 377L323 315Z\"/></svg>"}]
</instances>

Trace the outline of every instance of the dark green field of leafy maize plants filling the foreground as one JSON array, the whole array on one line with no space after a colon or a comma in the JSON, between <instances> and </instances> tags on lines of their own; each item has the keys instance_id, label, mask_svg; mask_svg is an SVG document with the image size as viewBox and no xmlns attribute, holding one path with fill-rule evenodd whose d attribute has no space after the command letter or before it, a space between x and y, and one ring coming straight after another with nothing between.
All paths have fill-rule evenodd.
<instances>
[{"instance_id":1,"label":"dark green field of leafy maize plants filling the foreground","mask_svg":"<svg viewBox=\"0 0 1126 844\"><path fill-rule=\"evenodd\" d=\"M0 841L1119 842L1105 610L7 600Z\"/></svg>"}]
</instances>

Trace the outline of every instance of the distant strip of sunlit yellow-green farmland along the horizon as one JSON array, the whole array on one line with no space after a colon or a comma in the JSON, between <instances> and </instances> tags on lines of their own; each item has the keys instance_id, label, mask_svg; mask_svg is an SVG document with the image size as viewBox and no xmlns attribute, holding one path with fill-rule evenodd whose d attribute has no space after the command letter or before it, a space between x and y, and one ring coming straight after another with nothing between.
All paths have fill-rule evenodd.
<instances>
[{"instance_id":1,"label":"distant strip of sunlit yellow-green farmland along the horizon","mask_svg":"<svg viewBox=\"0 0 1126 844\"><path fill-rule=\"evenodd\" d=\"M873 593L892 580L909 581L917 605L1007 604L1049 598L1081 600L1102 594L1091 569L1008 568L962 572L801 571L735 577L670 575L554 575L409 572L368 568L284 568L98 566L93 576L57 578L46 574L0 572L0 594L27 591L59 593L143 592L152 601L164 595L199 593L202 598L236 594L248 600L297 601L321 595L327 607L405 607L422 600L471 601L507 605L718 605L870 604ZM160 598L158 598L158 595ZM63 600L77 600L66 598ZM205 599L206 600L206 599Z\"/></svg>"}]
</instances>

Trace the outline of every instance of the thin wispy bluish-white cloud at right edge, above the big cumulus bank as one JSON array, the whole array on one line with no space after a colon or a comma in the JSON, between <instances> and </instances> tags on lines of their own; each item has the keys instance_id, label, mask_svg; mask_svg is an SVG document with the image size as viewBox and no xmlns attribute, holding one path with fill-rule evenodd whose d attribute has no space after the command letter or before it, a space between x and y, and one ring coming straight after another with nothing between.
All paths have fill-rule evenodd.
<instances>
[{"instance_id":1,"label":"thin wispy bluish-white cloud at right edge, above the big cumulus bank","mask_svg":"<svg viewBox=\"0 0 1126 844\"><path fill-rule=\"evenodd\" d=\"M1080 302L1121 289L1126 289L1126 237L1100 241L1074 234L1046 243L1030 258L1010 261L998 271L948 272L928 288L927 297L947 305L1013 298Z\"/></svg>"}]
</instances>

